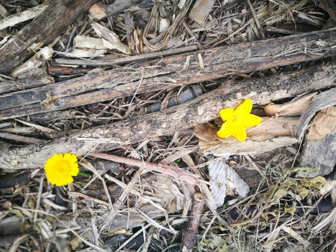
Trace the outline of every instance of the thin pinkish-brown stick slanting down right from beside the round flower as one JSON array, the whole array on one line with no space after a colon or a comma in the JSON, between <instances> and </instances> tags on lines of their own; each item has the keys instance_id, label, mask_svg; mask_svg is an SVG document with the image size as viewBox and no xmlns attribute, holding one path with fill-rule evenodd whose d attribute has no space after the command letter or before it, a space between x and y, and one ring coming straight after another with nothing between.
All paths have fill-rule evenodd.
<instances>
[{"instance_id":1,"label":"thin pinkish-brown stick slanting down right from beside the round flower","mask_svg":"<svg viewBox=\"0 0 336 252\"><path fill-rule=\"evenodd\" d=\"M103 159L111 160L114 162L122 162L127 165L143 167L144 169L148 169L151 172L160 172L162 174L172 176L174 177L174 179L179 179L180 181L185 181L186 183L190 183L190 185L196 185L200 183L200 181L197 180L197 176L191 174L190 172L183 171L183 169L178 169L176 167L171 167L168 165L153 164L153 163L143 162L142 160L136 160L133 158L124 158L124 157L120 157L117 155L104 154L104 153L92 153L89 155L95 158L103 158Z\"/></svg>"}]
</instances>

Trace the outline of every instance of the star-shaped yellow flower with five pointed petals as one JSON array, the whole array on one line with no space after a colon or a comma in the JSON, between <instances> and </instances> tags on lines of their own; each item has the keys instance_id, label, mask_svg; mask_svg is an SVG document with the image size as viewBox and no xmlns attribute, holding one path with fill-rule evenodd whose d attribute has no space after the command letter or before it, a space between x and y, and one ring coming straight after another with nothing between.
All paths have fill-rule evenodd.
<instances>
[{"instance_id":1,"label":"star-shaped yellow flower with five pointed petals","mask_svg":"<svg viewBox=\"0 0 336 252\"><path fill-rule=\"evenodd\" d=\"M218 137L236 137L239 141L246 139L246 127L260 125L261 118L251 115L252 101L246 99L237 109L222 109L219 111L224 123L217 132Z\"/></svg>"}]
</instances>

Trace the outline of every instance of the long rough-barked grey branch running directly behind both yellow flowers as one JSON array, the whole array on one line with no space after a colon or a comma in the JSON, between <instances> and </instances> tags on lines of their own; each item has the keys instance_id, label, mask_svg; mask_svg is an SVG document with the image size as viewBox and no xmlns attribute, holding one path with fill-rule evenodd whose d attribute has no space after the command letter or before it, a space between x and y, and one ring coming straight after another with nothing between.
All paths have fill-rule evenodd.
<instances>
[{"instance_id":1,"label":"long rough-barked grey branch running directly behind both yellow flowers","mask_svg":"<svg viewBox=\"0 0 336 252\"><path fill-rule=\"evenodd\" d=\"M54 153L84 156L92 151L109 151L209 122L218 117L221 109L235 107L242 99L252 99L254 104L268 104L304 92L334 87L335 83L335 63L271 78L225 83L212 92L165 111L92 127L46 144L13 146L0 142L0 168L37 169L43 167Z\"/></svg>"}]
</instances>

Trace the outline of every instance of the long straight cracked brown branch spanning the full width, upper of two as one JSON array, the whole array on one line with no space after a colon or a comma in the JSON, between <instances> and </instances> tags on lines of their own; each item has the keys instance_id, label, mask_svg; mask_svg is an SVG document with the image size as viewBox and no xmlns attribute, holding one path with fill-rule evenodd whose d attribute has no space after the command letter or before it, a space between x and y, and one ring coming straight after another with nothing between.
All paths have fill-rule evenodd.
<instances>
[{"instance_id":1,"label":"long straight cracked brown branch spanning the full width, upper of two","mask_svg":"<svg viewBox=\"0 0 336 252\"><path fill-rule=\"evenodd\" d=\"M202 50L194 55L176 55L132 68L113 69L62 83L1 95L0 120L74 106L104 102L139 93L162 90L248 73L275 66L296 64L336 55L336 29L272 38L265 41ZM201 68L199 55L204 69Z\"/></svg>"}]
</instances>

